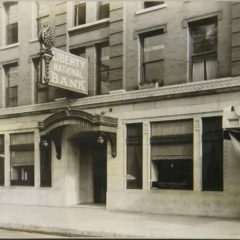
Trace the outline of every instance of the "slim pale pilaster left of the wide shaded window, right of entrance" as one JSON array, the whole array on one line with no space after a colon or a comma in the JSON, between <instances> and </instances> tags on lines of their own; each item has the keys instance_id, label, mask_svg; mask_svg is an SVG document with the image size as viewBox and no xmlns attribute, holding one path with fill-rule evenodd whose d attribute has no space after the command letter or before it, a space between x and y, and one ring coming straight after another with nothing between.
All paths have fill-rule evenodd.
<instances>
[{"instance_id":1,"label":"slim pale pilaster left of the wide shaded window, right of entrance","mask_svg":"<svg viewBox=\"0 0 240 240\"><path fill-rule=\"evenodd\" d=\"M150 189L150 125L143 122L143 190Z\"/></svg>"}]
</instances>

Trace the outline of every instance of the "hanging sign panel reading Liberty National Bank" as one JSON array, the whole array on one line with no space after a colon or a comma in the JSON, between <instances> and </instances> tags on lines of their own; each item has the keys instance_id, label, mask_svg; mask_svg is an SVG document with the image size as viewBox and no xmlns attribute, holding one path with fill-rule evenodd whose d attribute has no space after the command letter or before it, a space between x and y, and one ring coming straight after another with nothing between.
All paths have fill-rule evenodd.
<instances>
[{"instance_id":1,"label":"hanging sign panel reading Liberty National Bank","mask_svg":"<svg viewBox=\"0 0 240 240\"><path fill-rule=\"evenodd\" d=\"M88 94L87 59L52 48L53 57L49 64L50 86Z\"/></svg>"}]
</instances>

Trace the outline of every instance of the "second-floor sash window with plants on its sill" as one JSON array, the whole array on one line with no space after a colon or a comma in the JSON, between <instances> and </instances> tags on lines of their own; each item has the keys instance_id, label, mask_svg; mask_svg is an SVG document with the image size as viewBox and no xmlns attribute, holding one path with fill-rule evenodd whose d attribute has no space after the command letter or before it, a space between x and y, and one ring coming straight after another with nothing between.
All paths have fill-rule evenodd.
<instances>
[{"instance_id":1,"label":"second-floor sash window with plants on its sill","mask_svg":"<svg viewBox=\"0 0 240 240\"><path fill-rule=\"evenodd\" d=\"M140 34L142 47L141 62L142 76L141 83L158 82L163 85L163 61L164 61L164 39L163 29L145 34Z\"/></svg>"}]
</instances>

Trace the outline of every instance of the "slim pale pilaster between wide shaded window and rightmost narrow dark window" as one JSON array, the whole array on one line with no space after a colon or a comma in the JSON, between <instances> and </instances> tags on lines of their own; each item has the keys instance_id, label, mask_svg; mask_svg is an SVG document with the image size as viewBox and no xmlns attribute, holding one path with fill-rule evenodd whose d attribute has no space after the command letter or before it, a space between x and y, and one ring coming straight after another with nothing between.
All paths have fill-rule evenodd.
<instances>
[{"instance_id":1,"label":"slim pale pilaster between wide shaded window and rightmost narrow dark window","mask_svg":"<svg viewBox=\"0 0 240 240\"><path fill-rule=\"evenodd\" d=\"M193 190L202 190L202 121L200 117L193 120Z\"/></svg>"}]
</instances>

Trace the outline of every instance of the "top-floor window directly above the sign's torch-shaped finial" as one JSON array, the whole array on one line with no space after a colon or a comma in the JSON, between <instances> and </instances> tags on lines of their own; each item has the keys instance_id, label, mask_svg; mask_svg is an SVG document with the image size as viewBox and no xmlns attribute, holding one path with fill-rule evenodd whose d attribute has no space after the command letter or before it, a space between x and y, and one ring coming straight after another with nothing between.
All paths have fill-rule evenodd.
<instances>
[{"instance_id":1,"label":"top-floor window directly above the sign's torch-shaped finial","mask_svg":"<svg viewBox=\"0 0 240 240\"><path fill-rule=\"evenodd\" d=\"M46 25L49 24L49 2L39 1L36 2L37 7L37 34Z\"/></svg>"}]
</instances>

